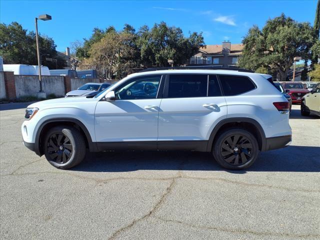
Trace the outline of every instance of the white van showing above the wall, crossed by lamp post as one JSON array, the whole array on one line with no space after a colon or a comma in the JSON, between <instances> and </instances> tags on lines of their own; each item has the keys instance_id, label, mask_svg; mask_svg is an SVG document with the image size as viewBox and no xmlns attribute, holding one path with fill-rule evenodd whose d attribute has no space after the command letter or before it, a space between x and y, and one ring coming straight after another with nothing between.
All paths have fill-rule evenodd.
<instances>
[{"instance_id":1,"label":"white van showing above the wall, crossed by lamp post","mask_svg":"<svg viewBox=\"0 0 320 240\"><path fill-rule=\"evenodd\" d=\"M4 71L13 71L14 75L38 75L37 65L27 64L3 64ZM41 66L41 75L50 75L49 68L47 66Z\"/></svg>"}]
</instances>

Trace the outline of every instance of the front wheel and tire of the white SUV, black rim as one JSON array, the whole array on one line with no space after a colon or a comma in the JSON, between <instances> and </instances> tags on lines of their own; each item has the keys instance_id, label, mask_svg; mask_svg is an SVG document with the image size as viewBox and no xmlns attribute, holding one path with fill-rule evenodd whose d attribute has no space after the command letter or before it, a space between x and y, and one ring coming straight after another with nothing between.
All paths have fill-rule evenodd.
<instances>
[{"instance_id":1,"label":"front wheel and tire of the white SUV, black rim","mask_svg":"<svg viewBox=\"0 0 320 240\"><path fill-rule=\"evenodd\" d=\"M44 155L59 169L79 164L85 156L85 141L81 132L72 126L55 126L44 137Z\"/></svg>"}]
</instances>

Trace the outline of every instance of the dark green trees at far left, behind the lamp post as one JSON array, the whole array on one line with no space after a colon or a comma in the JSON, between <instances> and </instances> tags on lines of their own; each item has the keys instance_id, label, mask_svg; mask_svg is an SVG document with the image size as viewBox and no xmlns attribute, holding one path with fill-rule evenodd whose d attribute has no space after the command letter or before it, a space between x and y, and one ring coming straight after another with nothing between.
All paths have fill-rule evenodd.
<instances>
[{"instance_id":1,"label":"dark green trees at far left, behind the lamp post","mask_svg":"<svg viewBox=\"0 0 320 240\"><path fill-rule=\"evenodd\" d=\"M39 35L40 54L56 55L56 45L52 38ZM17 22L11 24L0 23L0 55L5 64L37 65L35 33ZM43 62L45 61L43 57Z\"/></svg>"}]
</instances>

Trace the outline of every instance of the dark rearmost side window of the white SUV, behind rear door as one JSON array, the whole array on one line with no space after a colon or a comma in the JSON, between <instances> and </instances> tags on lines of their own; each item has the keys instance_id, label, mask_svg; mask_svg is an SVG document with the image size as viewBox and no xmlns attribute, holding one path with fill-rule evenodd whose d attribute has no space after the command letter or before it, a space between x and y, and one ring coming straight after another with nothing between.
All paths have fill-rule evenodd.
<instances>
[{"instance_id":1,"label":"dark rearmost side window of the white SUV, behind rear door","mask_svg":"<svg viewBox=\"0 0 320 240\"><path fill-rule=\"evenodd\" d=\"M238 95L255 88L253 82L245 76L219 75L225 96Z\"/></svg>"}]
</instances>

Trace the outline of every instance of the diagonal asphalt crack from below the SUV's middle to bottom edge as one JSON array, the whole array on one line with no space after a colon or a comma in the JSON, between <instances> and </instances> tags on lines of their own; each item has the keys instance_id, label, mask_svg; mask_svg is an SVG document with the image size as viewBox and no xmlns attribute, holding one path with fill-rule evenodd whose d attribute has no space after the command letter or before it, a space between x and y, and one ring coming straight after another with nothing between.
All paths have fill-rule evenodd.
<instances>
[{"instance_id":1,"label":"diagonal asphalt crack from below the SUV's middle to bottom edge","mask_svg":"<svg viewBox=\"0 0 320 240\"><path fill-rule=\"evenodd\" d=\"M173 179L171 180L169 186L166 188L165 192L161 195L160 199L156 202L156 204L151 208L151 210L146 213L145 215L143 215L140 218L134 219L131 223L129 223L126 226L123 226L121 228L119 228L118 230L116 230L109 238L108 240L112 240L115 239L115 237L117 237L121 232L129 229L130 227L132 227L133 225L135 225L137 222L149 217L154 211L156 211L164 202L165 198L170 194L170 192L172 191L172 188L174 186L175 180L176 178L181 177L180 175L173 177Z\"/></svg>"}]
</instances>

